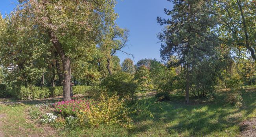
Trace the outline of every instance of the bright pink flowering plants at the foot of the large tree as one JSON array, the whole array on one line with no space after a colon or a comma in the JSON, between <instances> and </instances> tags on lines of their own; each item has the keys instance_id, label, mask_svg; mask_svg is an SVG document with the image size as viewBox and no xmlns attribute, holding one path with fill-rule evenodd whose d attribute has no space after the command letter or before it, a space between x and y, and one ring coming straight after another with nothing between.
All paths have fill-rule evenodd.
<instances>
[{"instance_id":1,"label":"bright pink flowering plants at the foot of the large tree","mask_svg":"<svg viewBox=\"0 0 256 137\"><path fill-rule=\"evenodd\" d=\"M89 109L93 102L91 100L70 100L55 103L53 106L63 117L68 115L77 116L80 109Z\"/></svg>"}]
</instances>

